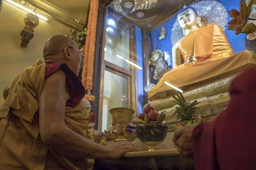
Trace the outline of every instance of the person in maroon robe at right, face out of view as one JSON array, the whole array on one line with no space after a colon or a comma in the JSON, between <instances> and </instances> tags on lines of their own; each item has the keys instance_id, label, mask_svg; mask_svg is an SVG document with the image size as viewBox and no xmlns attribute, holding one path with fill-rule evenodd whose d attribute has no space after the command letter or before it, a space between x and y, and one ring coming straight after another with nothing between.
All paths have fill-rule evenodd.
<instances>
[{"instance_id":1,"label":"person in maroon robe at right, face out of view","mask_svg":"<svg viewBox=\"0 0 256 170\"><path fill-rule=\"evenodd\" d=\"M237 76L230 95L227 108L214 121L175 131L176 148L193 154L196 170L256 169L256 70Z\"/></svg>"}]
</instances>

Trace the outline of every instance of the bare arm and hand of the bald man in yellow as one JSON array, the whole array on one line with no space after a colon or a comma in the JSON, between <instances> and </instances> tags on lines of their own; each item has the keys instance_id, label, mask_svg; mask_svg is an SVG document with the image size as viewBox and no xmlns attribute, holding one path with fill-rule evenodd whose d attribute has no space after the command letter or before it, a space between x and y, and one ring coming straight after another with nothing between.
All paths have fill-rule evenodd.
<instances>
[{"instance_id":1,"label":"bare arm and hand of the bald man in yellow","mask_svg":"<svg viewBox=\"0 0 256 170\"><path fill-rule=\"evenodd\" d=\"M69 129L64 121L65 81L64 72L58 70L46 80L40 97L40 134L48 148L67 155L86 158L118 158L127 151L137 151L136 146L131 143L119 144L116 148L107 148ZM118 153L118 150L123 150L123 153Z\"/></svg>"}]
</instances>

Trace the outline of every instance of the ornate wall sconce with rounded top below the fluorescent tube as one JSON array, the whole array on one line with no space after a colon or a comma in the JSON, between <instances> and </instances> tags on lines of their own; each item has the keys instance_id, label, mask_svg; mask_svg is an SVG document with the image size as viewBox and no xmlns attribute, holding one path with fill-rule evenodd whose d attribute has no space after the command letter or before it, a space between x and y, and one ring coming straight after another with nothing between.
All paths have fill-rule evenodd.
<instances>
[{"instance_id":1,"label":"ornate wall sconce with rounded top below the fluorescent tube","mask_svg":"<svg viewBox=\"0 0 256 170\"><path fill-rule=\"evenodd\" d=\"M33 28L39 24L39 19L35 14L28 13L24 18L25 27L21 31L21 46L26 47L29 41L34 37Z\"/></svg>"}]
</instances>

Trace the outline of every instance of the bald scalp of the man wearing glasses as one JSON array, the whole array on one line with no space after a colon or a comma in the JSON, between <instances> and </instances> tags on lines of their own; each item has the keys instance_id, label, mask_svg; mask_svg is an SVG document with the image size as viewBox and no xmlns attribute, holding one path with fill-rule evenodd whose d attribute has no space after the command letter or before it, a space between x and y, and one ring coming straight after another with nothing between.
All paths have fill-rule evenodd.
<instances>
[{"instance_id":1,"label":"bald scalp of the man wearing glasses","mask_svg":"<svg viewBox=\"0 0 256 170\"><path fill-rule=\"evenodd\" d=\"M57 55L64 47L73 47L76 42L66 36L56 35L47 40L43 48L43 58L47 56Z\"/></svg>"}]
</instances>

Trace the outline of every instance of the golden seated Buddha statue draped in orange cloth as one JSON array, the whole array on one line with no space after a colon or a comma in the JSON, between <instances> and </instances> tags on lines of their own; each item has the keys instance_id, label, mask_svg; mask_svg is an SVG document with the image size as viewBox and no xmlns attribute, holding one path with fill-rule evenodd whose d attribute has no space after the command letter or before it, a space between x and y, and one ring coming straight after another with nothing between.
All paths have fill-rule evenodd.
<instances>
[{"instance_id":1,"label":"golden seated Buddha statue draped in orange cloth","mask_svg":"<svg viewBox=\"0 0 256 170\"><path fill-rule=\"evenodd\" d=\"M183 8L177 19L185 36L173 45L173 69L150 89L147 93L149 99L171 90L165 81L186 91L235 75L246 68L256 68L253 51L234 54L224 30L217 24L201 26L194 8Z\"/></svg>"}]
</instances>

